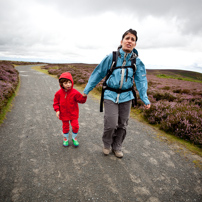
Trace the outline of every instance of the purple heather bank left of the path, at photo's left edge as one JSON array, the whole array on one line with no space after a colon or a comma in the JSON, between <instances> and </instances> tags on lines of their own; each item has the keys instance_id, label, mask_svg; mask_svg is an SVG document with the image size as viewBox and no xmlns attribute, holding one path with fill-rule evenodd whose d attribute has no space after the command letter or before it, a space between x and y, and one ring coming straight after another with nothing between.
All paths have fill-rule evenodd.
<instances>
[{"instance_id":1,"label":"purple heather bank left of the path, at photo's left edge","mask_svg":"<svg viewBox=\"0 0 202 202\"><path fill-rule=\"evenodd\" d=\"M11 62L0 61L0 113L19 82L18 71Z\"/></svg>"}]
</instances>

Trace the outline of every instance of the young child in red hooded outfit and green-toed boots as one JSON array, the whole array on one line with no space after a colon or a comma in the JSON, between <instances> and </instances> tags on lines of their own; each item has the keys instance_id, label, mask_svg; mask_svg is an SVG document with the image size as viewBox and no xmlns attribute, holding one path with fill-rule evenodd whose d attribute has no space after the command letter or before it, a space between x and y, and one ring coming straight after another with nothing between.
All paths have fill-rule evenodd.
<instances>
[{"instance_id":1,"label":"young child in red hooded outfit and green-toed boots","mask_svg":"<svg viewBox=\"0 0 202 202\"><path fill-rule=\"evenodd\" d=\"M69 72L62 73L59 78L61 89L55 93L53 108L56 116L62 121L64 140L63 146L69 146L69 122L72 126L72 141L75 147L79 146L77 133L79 130L79 106L78 103L85 103L87 96L83 96L73 88L74 82Z\"/></svg>"}]
</instances>

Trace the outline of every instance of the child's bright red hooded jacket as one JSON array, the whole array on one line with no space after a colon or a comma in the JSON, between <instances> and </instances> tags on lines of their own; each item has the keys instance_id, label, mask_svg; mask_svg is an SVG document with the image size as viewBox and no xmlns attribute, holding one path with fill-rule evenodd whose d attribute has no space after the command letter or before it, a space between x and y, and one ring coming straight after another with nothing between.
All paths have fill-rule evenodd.
<instances>
[{"instance_id":1,"label":"child's bright red hooded jacket","mask_svg":"<svg viewBox=\"0 0 202 202\"><path fill-rule=\"evenodd\" d=\"M68 121L79 118L79 106L78 103L85 103L87 97L84 97L79 91L73 88L74 82L72 75L69 72L62 73L60 78L69 79L72 82L71 90L65 91L61 86L61 89L55 93L53 100L54 110L60 111L60 120Z\"/></svg>"}]
</instances>

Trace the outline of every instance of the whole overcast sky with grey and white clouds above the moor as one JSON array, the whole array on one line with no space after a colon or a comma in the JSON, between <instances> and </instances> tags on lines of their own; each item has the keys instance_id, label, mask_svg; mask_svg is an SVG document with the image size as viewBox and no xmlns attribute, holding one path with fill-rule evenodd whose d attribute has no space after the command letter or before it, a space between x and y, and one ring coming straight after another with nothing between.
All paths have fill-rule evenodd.
<instances>
[{"instance_id":1,"label":"whole overcast sky with grey and white clouds above the moor","mask_svg":"<svg viewBox=\"0 0 202 202\"><path fill-rule=\"evenodd\" d=\"M130 28L147 69L202 73L202 0L0 0L0 60L98 64Z\"/></svg>"}]
</instances>

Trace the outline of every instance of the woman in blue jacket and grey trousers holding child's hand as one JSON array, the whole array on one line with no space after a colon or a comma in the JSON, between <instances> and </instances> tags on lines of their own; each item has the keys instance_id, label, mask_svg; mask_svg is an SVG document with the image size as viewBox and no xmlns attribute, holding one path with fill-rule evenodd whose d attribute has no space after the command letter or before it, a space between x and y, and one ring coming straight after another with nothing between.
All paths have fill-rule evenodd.
<instances>
[{"instance_id":1,"label":"woman in blue jacket and grey trousers holding child's hand","mask_svg":"<svg viewBox=\"0 0 202 202\"><path fill-rule=\"evenodd\" d=\"M104 132L103 132L103 153L109 155L110 149L116 157L122 158L122 143L126 137L126 126L130 115L133 92L124 91L133 86L133 78L136 88L139 91L141 100L144 102L146 109L150 108L150 102L147 97L147 78L146 70L142 61L137 57L135 49L137 41L137 32L129 29L126 31L121 40L121 46L118 49L116 67L106 84L111 89L120 89L117 93L112 90L104 91ZM135 54L136 53L136 54ZM131 66L131 58L136 58L136 72ZM112 66L113 54L106 56L102 62L95 68L89 81L84 89L84 96L87 94L107 75ZM121 92L124 91L124 92Z\"/></svg>"}]
</instances>

